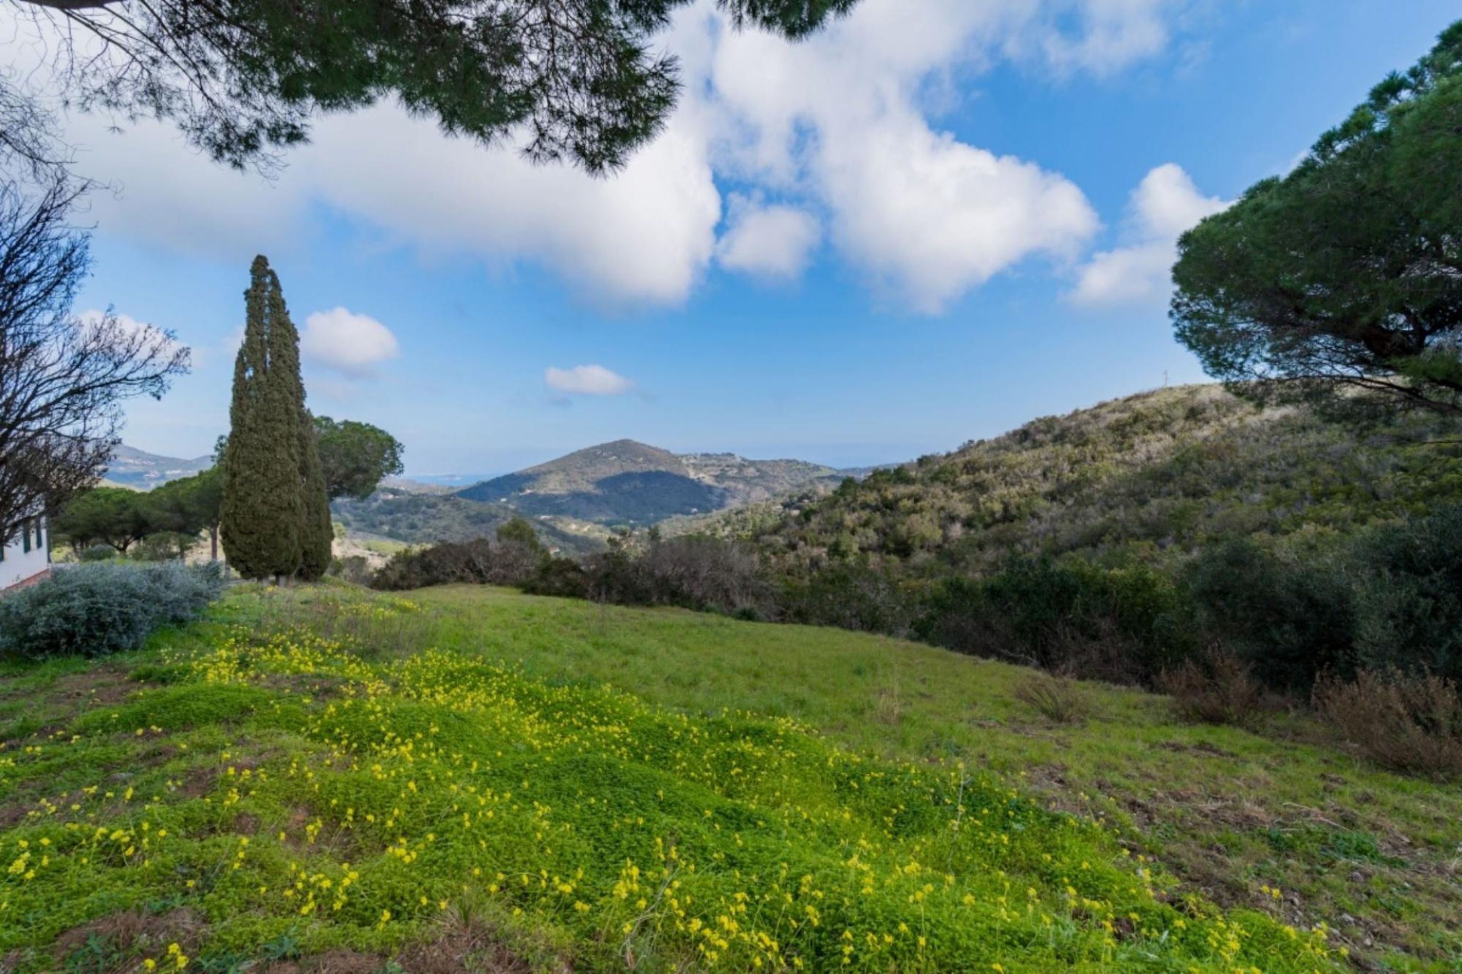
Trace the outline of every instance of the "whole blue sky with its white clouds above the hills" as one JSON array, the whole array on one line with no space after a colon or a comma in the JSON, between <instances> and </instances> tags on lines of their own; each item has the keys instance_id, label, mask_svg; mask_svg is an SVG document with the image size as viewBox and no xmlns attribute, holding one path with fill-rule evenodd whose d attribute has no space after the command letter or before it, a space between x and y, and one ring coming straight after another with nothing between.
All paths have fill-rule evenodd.
<instances>
[{"instance_id":1,"label":"whole blue sky with its white clouds above the hills","mask_svg":"<svg viewBox=\"0 0 1462 974\"><path fill-rule=\"evenodd\" d=\"M227 426L249 260L306 333L317 412L408 473L604 440L852 466L1197 381L1161 269L1282 172L1455 0L866 0L810 45L694 7L667 134L613 181L534 171L390 107L273 181L155 124L73 123L115 184L79 310L173 329L193 372L124 440ZM585 368L580 368L585 367ZM557 369L550 372L548 369ZM577 371L576 371L577 369Z\"/></svg>"}]
</instances>

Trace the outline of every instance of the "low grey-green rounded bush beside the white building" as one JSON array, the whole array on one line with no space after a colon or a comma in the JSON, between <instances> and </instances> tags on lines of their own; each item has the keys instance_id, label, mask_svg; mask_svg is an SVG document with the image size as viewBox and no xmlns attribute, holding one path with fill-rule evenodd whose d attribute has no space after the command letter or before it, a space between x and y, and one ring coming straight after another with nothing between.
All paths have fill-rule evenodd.
<instances>
[{"instance_id":1,"label":"low grey-green rounded bush beside the white building","mask_svg":"<svg viewBox=\"0 0 1462 974\"><path fill-rule=\"evenodd\" d=\"M91 562L0 599L0 653L104 656L187 622L222 591L218 564Z\"/></svg>"}]
</instances>

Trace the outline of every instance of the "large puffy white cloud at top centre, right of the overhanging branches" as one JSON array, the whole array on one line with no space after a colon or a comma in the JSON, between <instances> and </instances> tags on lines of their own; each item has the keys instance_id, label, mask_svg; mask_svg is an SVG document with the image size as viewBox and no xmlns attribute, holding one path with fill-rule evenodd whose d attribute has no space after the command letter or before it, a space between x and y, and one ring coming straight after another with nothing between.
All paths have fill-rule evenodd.
<instances>
[{"instance_id":1,"label":"large puffy white cloud at top centre, right of the overhanging branches","mask_svg":"<svg viewBox=\"0 0 1462 974\"><path fill-rule=\"evenodd\" d=\"M833 245L918 311L1026 257L1070 258L1098 225L1080 190L937 131L917 105L925 79L982 63L1028 10L866 0L804 44L725 34L711 67L718 164L817 199Z\"/></svg>"}]
</instances>

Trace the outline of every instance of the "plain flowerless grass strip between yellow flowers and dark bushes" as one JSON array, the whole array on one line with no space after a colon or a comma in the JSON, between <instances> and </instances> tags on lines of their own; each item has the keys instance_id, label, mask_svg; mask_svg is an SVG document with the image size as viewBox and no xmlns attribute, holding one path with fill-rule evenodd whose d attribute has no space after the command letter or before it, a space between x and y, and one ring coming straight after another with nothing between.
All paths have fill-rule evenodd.
<instances>
[{"instance_id":1,"label":"plain flowerless grass strip between yellow flowers and dark bushes","mask_svg":"<svg viewBox=\"0 0 1462 974\"><path fill-rule=\"evenodd\" d=\"M1399 948L1462 970L1462 789L1373 770L1317 729L1273 740L1187 726L1161 697L1096 685L1094 720L1051 726L1012 695L1029 670L915 643L471 587L418 594L447 645L693 713L794 717L890 759L990 768L1140 827L1135 847L1222 902L1326 921L1363 955Z\"/></svg>"}]
</instances>

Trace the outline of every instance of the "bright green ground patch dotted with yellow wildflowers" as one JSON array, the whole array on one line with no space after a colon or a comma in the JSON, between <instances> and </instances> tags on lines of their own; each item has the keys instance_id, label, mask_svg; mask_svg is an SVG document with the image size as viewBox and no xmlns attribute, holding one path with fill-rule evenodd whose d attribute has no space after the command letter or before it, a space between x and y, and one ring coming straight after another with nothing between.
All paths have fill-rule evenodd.
<instances>
[{"instance_id":1,"label":"bright green ground patch dotted with yellow wildflowers","mask_svg":"<svg viewBox=\"0 0 1462 974\"><path fill-rule=\"evenodd\" d=\"M1336 965L1323 930L1177 897L1110 828L958 765L455 653L194 641L137 672L165 685L0 752L6 967Z\"/></svg>"}]
</instances>

